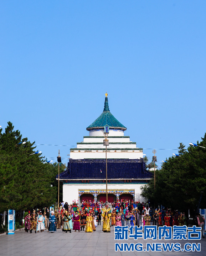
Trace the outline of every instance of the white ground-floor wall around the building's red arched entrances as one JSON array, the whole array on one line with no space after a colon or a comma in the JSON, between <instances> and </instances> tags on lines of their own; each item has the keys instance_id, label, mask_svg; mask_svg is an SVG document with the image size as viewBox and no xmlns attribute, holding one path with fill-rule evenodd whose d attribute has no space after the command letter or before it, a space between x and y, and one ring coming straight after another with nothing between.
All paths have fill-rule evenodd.
<instances>
[{"instance_id":1,"label":"white ground-floor wall around the building's red arched entrances","mask_svg":"<svg viewBox=\"0 0 206 256\"><path fill-rule=\"evenodd\" d=\"M145 201L145 198L140 196L140 187L143 184L108 184L108 189L134 189L135 201ZM63 184L63 201L72 203L78 200L78 189L106 189L106 184Z\"/></svg>"}]
</instances>

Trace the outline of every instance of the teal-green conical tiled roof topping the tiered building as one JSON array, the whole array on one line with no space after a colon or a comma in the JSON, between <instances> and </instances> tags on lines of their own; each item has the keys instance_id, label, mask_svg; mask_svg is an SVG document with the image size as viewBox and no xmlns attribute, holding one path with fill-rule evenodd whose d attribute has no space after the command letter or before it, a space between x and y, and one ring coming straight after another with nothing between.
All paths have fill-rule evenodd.
<instances>
[{"instance_id":1,"label":"teal-green conical tiled roof topping the tiered building","mask_svg":"<svg viewBox=\"0 0 206 256\"><path fill-rule=\"evenodd\" d=\"M104 110L102 114L92 124L90 124L87 127L87 131L96 129L96 128L104 128L105 124L108 124L109 128L117 128L123 131L127 130L127 128L123 124L121 124L109 111L109 104L108 104L107 97L105 97Z\"/></svg>"}]
</instances>

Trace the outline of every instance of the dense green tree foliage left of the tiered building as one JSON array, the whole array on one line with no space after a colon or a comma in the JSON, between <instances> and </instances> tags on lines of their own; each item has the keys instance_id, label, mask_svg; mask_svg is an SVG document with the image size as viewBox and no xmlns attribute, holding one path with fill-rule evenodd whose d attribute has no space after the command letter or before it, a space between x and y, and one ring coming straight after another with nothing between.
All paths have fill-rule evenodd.
<instances>
[{"instance_id":1,"label":"dense green tree foliage left of the tiered building","mask_svg":"<svg viewBox=\"0 0 206 256\"><path fill-rule=\"evenodd\" d=\"M22 141L26 143L18 145ZM0 212L8 208L26 210L57 201L58 168L43 164L41 154L30 155L36 148L34 143L14 131L11 122L4 133L0 129Z\"/></svg>"}]
</instances>

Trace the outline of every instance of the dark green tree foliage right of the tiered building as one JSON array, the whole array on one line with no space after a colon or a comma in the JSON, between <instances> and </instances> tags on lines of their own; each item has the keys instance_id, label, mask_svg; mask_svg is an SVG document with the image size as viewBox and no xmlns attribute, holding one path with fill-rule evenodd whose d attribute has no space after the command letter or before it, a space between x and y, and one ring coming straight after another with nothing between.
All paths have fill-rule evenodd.
<instances>
[{"instance_id":1,"label":"dark green tree foliage right of the tiered building","mask_svg":"<svg viewBox=\"0 0 206 256\"><path fill-rule=\"evenodd\" d=\"M198 145L206 147L206 134ZM200 194L204 192L201 205L206 203L206 149L188 147L180 143L180 157L169 157L154 178L141 187L141 195L150 199L153 205L164 205L172 209L195 209ZM201 207L200 207L201 208ZM204 207L205 208L205 207Z\"/></svg>"}]
</instances>

